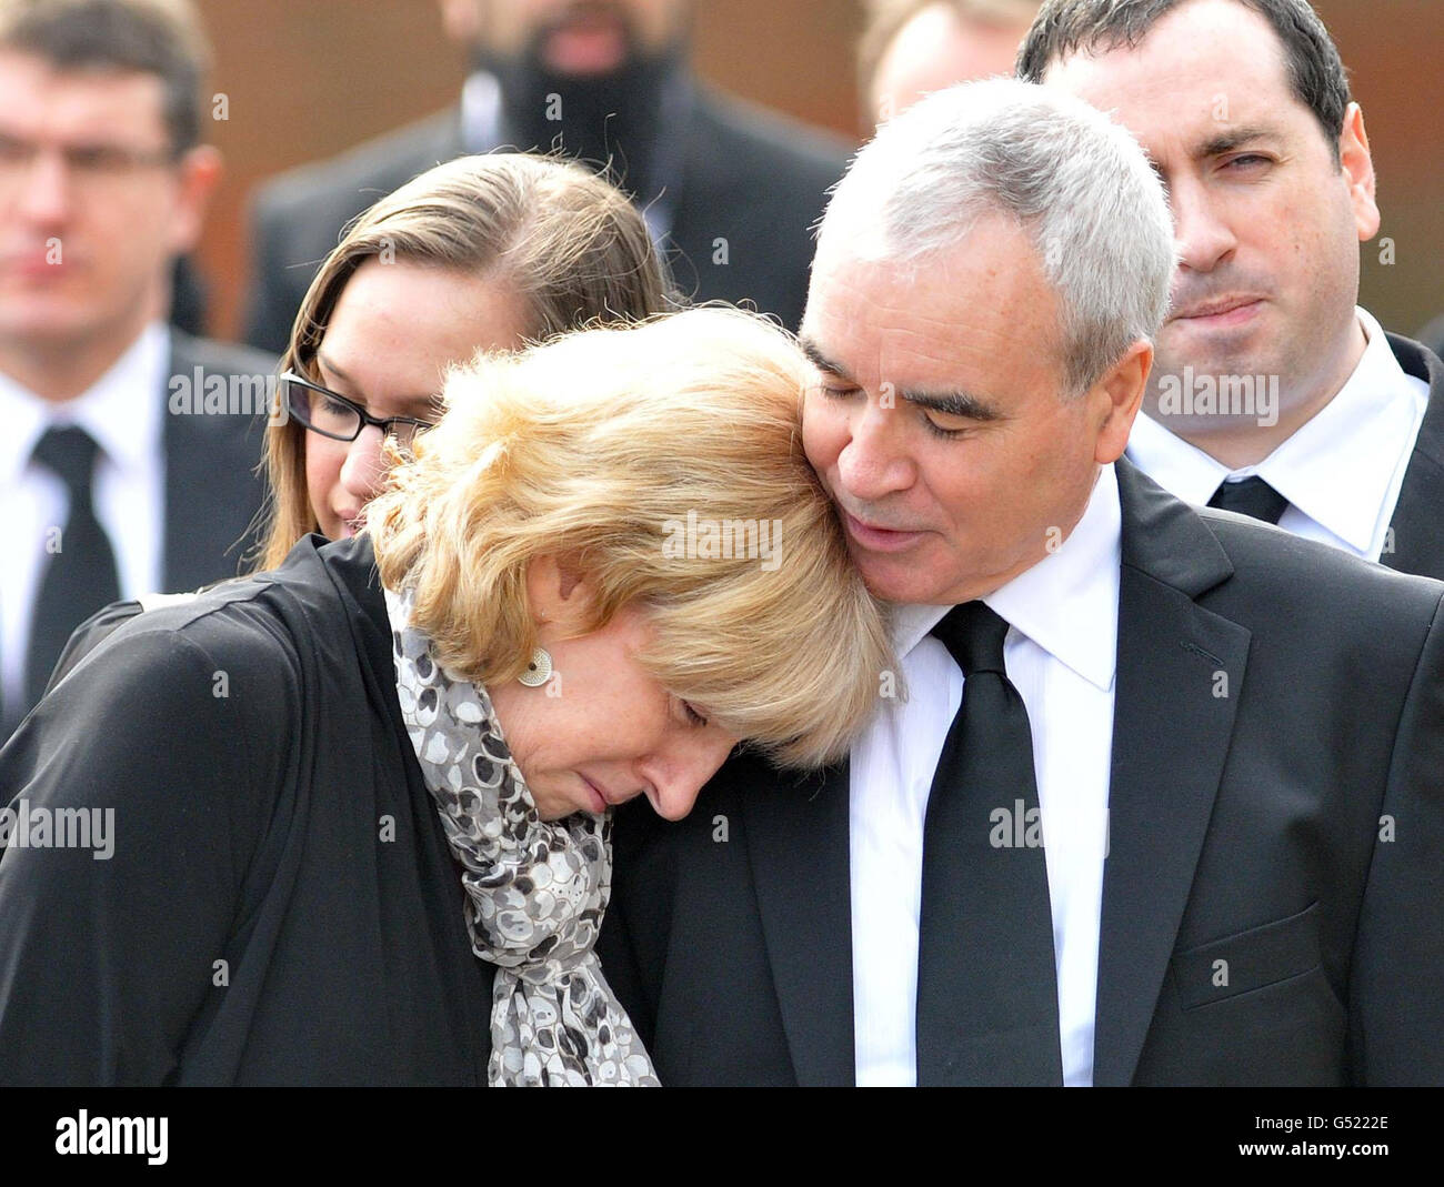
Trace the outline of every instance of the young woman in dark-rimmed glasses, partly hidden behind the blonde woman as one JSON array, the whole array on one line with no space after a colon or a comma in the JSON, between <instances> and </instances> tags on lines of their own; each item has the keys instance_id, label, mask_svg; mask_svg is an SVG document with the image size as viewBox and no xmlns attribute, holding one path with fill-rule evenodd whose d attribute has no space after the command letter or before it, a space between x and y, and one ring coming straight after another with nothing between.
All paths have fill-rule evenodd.
<instances>
[{"instance_id":1,"label":"young woman in dark-rimmed glasses, partly hidden behind the blonde woman","mask_svg":"<svg viewBox=\"0 0 1444 1187\"><path fill-rule=\"evenodd\" d=\"M641 214L580 165L490 153L407 182L347 230L296 315L280 364L286 414L266 432L270 494L256 568L276 568L309 533L354 534L383 478L386 436L404 446L435 420L452 364L669 308ZM173 601L94 614L49 687L117 625Z\"/></svg>"}]
</instances>

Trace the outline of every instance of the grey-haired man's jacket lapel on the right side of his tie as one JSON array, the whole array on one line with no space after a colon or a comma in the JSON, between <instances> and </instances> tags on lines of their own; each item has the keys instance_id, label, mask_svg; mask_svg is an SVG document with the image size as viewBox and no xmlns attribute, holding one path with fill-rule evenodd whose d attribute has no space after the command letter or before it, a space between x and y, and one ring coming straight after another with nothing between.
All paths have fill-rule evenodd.
<instances>
[{"instance_id":1,"label":"grey-haired man's jacket lapel on the right side of his tie","mask_svg":"<svg viewBox=\"0 0 1444 1187\"><path fill-rule=\"evenodd\" d=\"M1249 632L1194 598L1233 566L1199 514L1128 462L1093 1082L1128 1084L1203 848Z\"/></svg>"}]
</instances>

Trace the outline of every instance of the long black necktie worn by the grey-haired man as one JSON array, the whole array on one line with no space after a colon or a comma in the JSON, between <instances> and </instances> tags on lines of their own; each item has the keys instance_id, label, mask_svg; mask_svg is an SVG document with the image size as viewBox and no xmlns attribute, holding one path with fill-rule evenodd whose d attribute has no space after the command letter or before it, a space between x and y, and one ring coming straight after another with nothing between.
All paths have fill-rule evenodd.
<instances>
[{"instance_id":1,"label":"long black necktie worn by the grey-haired man","mask_svg":"<svg viewBox=\"0 0 1444 1187\"><path fill-rule=\"evenodd\" d=\"M927 799L917 953L920 1084L1061 1084L1053 913L1032 732L982 602L933 628L963 669Z\"/></svg>"}]
</instances>

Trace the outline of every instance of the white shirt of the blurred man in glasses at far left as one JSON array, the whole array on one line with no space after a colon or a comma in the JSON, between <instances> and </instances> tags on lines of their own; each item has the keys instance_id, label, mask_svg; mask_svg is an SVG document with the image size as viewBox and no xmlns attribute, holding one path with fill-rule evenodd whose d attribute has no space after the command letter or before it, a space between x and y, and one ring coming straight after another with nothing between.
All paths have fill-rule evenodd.
<instances>
[{"instance_id":1,"label":"white shirt of the blurred man in glasses at far left","mask_svg":"<svg viewBox=\"0 0 1444 1187\"><path fill-rule=\"evenodd\" d=\"M123 598L163 585L166 458L162 440L170 335L153 322L92 387L64 404L42 400L0 373L0 687L25 699L25 653L46 540L69 518L65 484L30 461L52 425L78 425L100 445L95 518L110 536ZM98 606L97 606L98 609ZM0 738L0 742L4 739Z\"/></svg>"}]
</instances>

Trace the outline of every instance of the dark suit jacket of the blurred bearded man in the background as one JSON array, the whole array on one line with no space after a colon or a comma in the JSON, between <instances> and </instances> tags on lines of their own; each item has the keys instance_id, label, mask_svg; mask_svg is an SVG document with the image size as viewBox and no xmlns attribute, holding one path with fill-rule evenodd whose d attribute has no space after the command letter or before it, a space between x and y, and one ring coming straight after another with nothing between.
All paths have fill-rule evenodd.
<instances>
[{"instance_id":1,"label":"dark suit jacket of the blurred bearded man in the background","mask_svg":"<svg viewBox=\"0 0 1444 1187\"><path fill-rule=\"evenodd\" d=\"M251 217L245 339L283 351L310 279L345 224L462 150L459 111L451 110L270 182ZM699 91L667 244L683 296L752 300L796 328L807 297L810 227L846 159L839 140Z\"/></svg>"}]
</instances>

